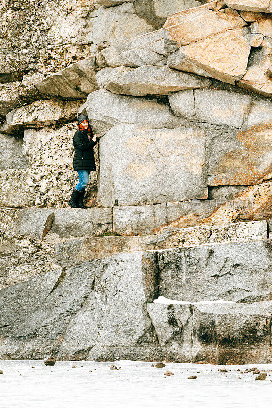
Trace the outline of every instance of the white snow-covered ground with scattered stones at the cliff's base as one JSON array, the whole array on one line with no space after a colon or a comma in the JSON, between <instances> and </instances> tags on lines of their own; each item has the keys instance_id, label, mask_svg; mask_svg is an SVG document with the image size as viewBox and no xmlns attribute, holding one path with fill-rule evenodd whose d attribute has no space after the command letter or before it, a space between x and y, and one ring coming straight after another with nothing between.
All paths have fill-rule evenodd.
<instances>
[{"instance_id":1,"label":"white snow-covered ground with scattered stones at the cliff's base","mask_svg":"<svg viewBox=\"0 0 272 408\"><path fill-rule=\"evenodd\" d=\"M109 362L0 360L0 406L5 408L259 408L271 406L272 364L257 364L268 373L255 381L251 366L226 366L227 373L205 364L152 363L122 360L118 370ZM154 363L155 364L155 363ZM72 366L77 366L73 368ZM91 371L90 371L91 370ZM164 372L171 370L172 376ZM197 379L188 379L197 375ZM241 377L239 379L238 377Z\"/></svg>"}]
</instances>

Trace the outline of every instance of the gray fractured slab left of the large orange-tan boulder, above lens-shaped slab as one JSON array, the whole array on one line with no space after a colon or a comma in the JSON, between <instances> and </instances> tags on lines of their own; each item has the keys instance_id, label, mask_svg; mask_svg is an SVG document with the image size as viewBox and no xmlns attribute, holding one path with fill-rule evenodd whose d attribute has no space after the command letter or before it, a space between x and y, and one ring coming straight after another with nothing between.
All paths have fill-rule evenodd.
<instances>
[{"instance_id":1,"label":"gray fractured slab left of the large orange-tan boulder, above lens-shaped slab","mask_svg":"<svg viewBox=\"0 0 272 408\"><path fill-rule=\"evenodd\" d=\"M146 64L158 64L165 59L163 29L117 42L96 56L100 68L123 65L136 68Z\"/></svg>"}]
</instances>

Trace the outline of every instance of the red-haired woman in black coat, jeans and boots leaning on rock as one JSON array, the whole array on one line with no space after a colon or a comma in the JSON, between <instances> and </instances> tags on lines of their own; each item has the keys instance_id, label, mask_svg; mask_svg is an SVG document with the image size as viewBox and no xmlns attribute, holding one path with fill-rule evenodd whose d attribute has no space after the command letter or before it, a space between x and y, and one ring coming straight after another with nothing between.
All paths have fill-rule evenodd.
<instances>
[{"instance_id":1,"label":"red-haired woman in black coat, jeans and boots leaning on rock","mask_svg":"<svg viewBox=\"0 0 272 408\"><path fill-rule=\"evenodd\" d=\"M89 182L91 171L95 171L95 160L93 146L97 143L97 134L93 135L88 116L78 116L78 130L73 136L73 169L78 172L79 183L73 189L69 206L73 208L87 208L83 205L85 187Z\"/></svg>"}]
</instances>

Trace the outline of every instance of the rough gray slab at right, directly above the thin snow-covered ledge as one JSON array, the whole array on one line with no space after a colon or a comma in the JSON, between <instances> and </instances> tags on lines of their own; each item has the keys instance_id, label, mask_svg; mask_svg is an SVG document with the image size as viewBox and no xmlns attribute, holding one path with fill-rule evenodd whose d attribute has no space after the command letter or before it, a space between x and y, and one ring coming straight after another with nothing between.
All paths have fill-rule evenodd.
<instances>
[{"instance_id":1,"label":"rough gray slab at right, directly above the thin snow-covered ledge","mask_svg":"<svg viewBox=\"0 0 272 408\"><path fill-rule=\"evenodd\" d=\"M272 300L271 245L268 239L162 252L159 295L191 302Z\"/></svg>"}]
</instances>

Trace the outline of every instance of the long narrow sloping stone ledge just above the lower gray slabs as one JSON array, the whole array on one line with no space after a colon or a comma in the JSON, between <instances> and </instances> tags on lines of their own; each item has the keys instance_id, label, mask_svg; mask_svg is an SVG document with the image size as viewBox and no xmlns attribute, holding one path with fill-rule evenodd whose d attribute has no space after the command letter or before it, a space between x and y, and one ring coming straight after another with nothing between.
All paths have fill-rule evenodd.
<instances>
[{"instance_id":1,"label":"long narrow sloping stone ledge just above the lower gray slabs","mask_svg":"<svg viewBox=\"0 0 272 408\"><path fill-rule=\"evenodd\" d=\"M160 235L85 237L61 242L55 247L55 262L67 266L75 262L104 258L115 253L197 247L212 243L246 242L267 238L267 222L252 221L222 225L179 228Z\"/></svg>"}]
</instances>

